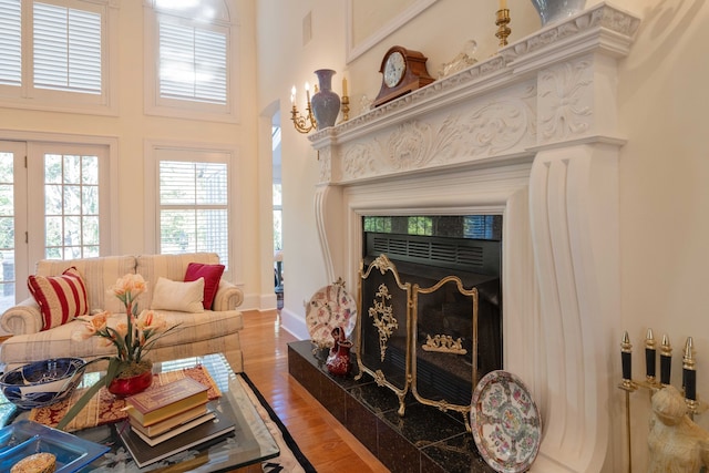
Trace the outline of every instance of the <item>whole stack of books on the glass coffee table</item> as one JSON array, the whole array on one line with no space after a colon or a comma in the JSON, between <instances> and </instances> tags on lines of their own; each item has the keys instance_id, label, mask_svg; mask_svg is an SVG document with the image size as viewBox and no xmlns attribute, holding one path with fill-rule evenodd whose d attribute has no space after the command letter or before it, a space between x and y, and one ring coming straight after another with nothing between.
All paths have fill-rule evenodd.
<instances>
[{"instance_id":1,"label":"whole stack of books on the glass coffee table","mask_svg":"<svg viewBox=\"0 0 709 473\"><path fill-rule=\"evenodd\" d=\"M130 429L121 439L140 467L234 430L234 422L209 409L207 390L183 378L125 399Z\"/></svg>"}]
</instances>

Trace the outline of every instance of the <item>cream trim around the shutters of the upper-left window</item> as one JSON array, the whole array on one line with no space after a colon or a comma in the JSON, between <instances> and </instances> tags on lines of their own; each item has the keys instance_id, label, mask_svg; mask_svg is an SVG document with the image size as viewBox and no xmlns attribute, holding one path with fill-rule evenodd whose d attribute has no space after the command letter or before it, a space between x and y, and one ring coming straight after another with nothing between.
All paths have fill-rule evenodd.
<instances>
[{"instance_id":1,"label":"cream trim around the shutters of the upper-left window","mask_svg":"<svg viewBox=\"0 0 709 473\"><path fill-rule=\"evenodd\" d=\"M119 1L41 0L60 7L102 13L101 94L55 91L33 86L33 1L22 2L22 85L0 85L0 107L117 116Z\"/></svg>"}]
</instances>

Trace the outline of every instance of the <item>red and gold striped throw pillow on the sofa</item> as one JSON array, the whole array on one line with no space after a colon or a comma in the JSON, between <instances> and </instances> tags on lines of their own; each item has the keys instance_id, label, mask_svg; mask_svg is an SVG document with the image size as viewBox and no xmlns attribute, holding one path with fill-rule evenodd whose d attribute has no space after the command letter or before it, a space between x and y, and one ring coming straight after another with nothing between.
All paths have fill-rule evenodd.
<instances>
[{"instance_id":1,"label":"red and gold striped throw pillow on the sofa","mask_svg":"<svg viewBox=\"0 0 709 473\"><path fill-rule=\"evenodd\" d=\"M71 267L61 276L30 276L30 294L42 312L42 330L49 330L89 313L89 297L81 274Z\"/></svg>"}]
</instances>

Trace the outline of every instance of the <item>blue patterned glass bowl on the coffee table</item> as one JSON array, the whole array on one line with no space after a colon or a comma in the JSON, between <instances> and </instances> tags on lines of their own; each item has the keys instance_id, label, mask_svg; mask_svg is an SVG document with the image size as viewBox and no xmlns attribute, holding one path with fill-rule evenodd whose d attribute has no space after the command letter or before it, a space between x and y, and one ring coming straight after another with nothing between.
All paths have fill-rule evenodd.
<instances>
[{"instance_id":1,"label":"blue patterned glass bowl on the coffee table","mask_svg":"<svg viewBox=\"0 0 709 473\"><path fill-rule=\"evenodd\" d=\"M43 408L63 401L83 376L81 358L54 358L16 368L0 377L2 394L21 409Z\"/></svg>"}]
</instances>

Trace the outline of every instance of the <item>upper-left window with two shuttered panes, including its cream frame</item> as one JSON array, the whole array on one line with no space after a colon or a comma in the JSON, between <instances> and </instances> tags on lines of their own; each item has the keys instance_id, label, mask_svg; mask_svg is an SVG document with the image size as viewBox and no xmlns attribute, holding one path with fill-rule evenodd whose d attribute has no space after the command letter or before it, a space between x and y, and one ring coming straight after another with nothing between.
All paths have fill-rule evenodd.
<instances>
[{"instance_id":1,"label":"upper-left window with two shuttered panes, including its cream frame","mask_svg":"<svg viewBox=\"0 0 709 473\"><path fill-rule=\"evenodd\" d=\"M109 0L0 0L2 105L114 113L112 10Z\"/></svg>"}]
</instances>

